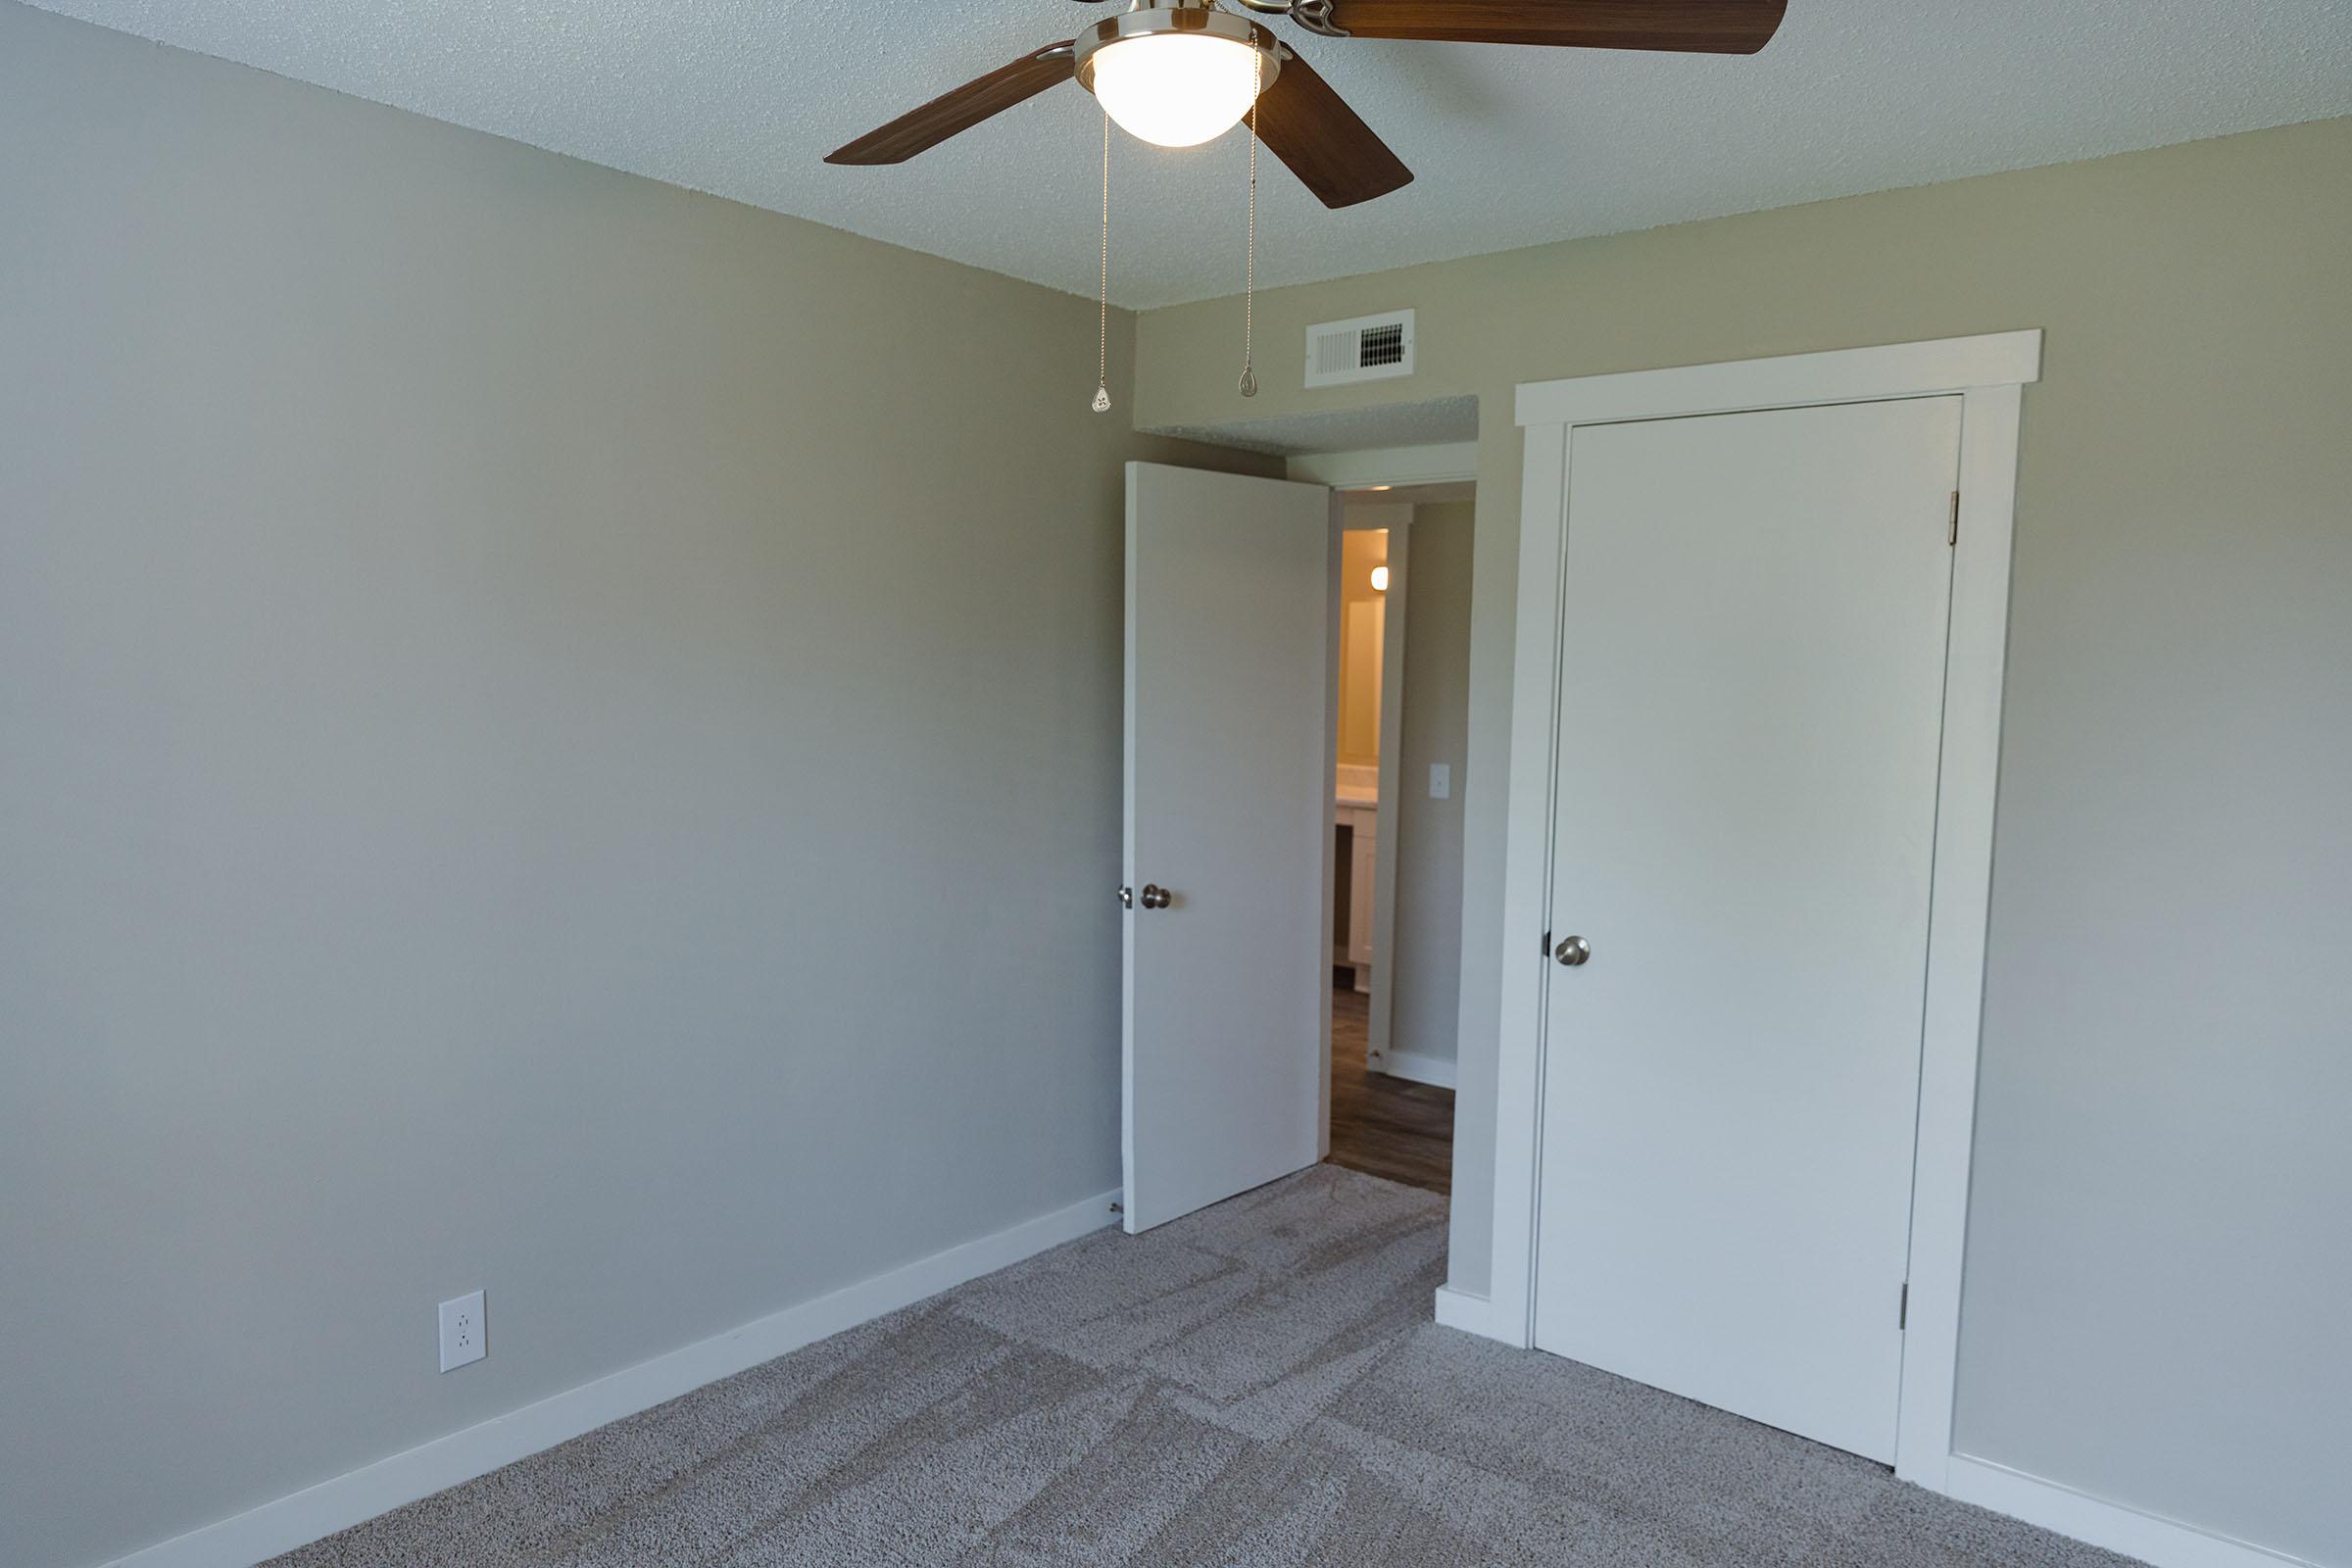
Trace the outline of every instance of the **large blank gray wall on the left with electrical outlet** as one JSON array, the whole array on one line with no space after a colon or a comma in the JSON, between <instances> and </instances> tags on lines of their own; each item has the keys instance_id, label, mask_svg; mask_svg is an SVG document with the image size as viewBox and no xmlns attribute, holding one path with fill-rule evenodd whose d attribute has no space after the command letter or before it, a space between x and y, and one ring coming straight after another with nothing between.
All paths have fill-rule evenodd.
<instances>
[{"instance_id":1,"label":"large blank gray wall on the left with electrical outlet","mask_svg":"<svg viewBox=\"0 0 2352 1568\"><path fill-rule=\"evenodd\" d=\"M1117 1185L1094 331L0 5L0 1563Z\"/></svg>"}]
</instances>

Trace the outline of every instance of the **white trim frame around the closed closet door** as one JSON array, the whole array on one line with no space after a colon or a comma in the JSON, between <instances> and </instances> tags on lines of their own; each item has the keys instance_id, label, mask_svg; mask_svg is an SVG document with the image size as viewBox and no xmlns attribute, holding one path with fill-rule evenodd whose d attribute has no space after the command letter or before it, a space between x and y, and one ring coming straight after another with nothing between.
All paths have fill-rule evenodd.
<instances>
[{"instance_id":1,"label":"white trim frame around the closed closet door","mask_svg":"<svg viewBox=\"0 0 2352 1568\"><path fill-rule=\"evenodd\" d=\"M1505 802L1503 992L1494 1140L1494 1276L1486 1333L1531 1347L1536 1175L1543 1107L1543 994L1550 957L1552 757L1566 475L1576 425L1738 414L1825 402L1950 395L1962 404L1962 515L1952 562L1943 764L1936 785L1919 1152L1912 1175L1910 1333L1896 1474L1950 1490L1959 1269L1976 1124L1976 1046L1985 910L1992 889L1992 785L2009 639L2020 386L2042 374L2042 334L1693 364L1519 388L1526 468L1519 522L1519 623L1512 661Z\"/></svg>"}]
</instances>

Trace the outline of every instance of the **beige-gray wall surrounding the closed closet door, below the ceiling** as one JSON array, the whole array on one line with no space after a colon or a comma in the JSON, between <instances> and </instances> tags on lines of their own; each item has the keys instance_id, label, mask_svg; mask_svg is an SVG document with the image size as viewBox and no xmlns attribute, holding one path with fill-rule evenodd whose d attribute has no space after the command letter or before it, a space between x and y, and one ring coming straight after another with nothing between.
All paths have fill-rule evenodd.
<instances>
[{"instance_id":1,"label":"beige-gray wall surrounding the closed closet door, below the ceiling","mask_svg":"<svg viewBox=\"0 0 2352 1568\"><path fill-rule=\"evenodd\" d=\"M2025 395L1959 1446L2352 1561L2352 120L1261 294L1482 407L1454 1276L1484 1288L1519 437L1555 376L2049 329ZM1240 301L1138 421L1242 414ZM1510 933L1526 940L1531 933Z\"/></svg>"}]
</instances>

